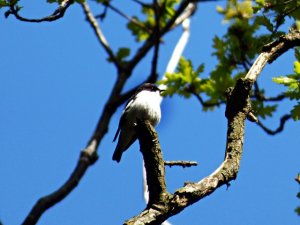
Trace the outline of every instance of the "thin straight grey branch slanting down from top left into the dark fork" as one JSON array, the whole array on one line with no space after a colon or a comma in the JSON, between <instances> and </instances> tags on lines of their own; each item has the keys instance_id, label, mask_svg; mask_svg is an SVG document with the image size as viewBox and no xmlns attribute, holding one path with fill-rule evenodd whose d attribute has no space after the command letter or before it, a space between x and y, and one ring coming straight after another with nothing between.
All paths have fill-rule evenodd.
<instances>
[{"instance_id":1,"label":"thin straight grey branch slanting down from top left into the dark fork","mask_svg":"<svg viewBox=\"0 0 300 225\"><path fill-rule=\"evenodd\" d=\"M91 27L93 28L96 37L98 38L98 41L100 42L101 46L104 48L106 53L108 54L109 58L112 60L112 62L116 65L118 69L120 69L121 65L118 59L115 57L112 49L110 48L104 34L102 33L99 24L96 20L96 18L93 16L89 5L86 2L80 3L83 11L86 15L87 21L90 23Z\"/></svg>"}]
</instances>

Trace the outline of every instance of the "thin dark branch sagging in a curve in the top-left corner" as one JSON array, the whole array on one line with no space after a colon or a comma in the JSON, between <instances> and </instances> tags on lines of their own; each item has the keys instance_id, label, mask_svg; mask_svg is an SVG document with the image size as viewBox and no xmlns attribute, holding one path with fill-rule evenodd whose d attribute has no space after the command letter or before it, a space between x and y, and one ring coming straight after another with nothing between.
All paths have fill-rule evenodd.
<instances>
[{"instance_id":1,"label":"thin dark branch sagging in a curve in the top-left corner","mask_svg":"<svg viewBox=\"0 0 300 225\"><path fill-rule=\"evenodd\" d=\"M70 5L74 3L74 0L66 0L61 4L50 16L43 17L41 19L28 19L19 15L20 7L18 5L10 5L10 9L5 13L6 17L14 15L16 19L24 22L40 23L40 22L52 22L62 18L65 15L66 10Z\"/></svg>"}]
</instances>

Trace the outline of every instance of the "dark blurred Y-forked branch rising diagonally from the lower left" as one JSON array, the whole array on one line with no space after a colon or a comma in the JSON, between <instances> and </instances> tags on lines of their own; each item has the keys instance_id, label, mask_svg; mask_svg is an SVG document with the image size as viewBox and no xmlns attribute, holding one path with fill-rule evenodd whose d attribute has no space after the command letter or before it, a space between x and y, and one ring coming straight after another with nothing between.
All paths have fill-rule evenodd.
<instances>
[{"instance_id":1,"label":"dark blurred Y-forked branch rising diagonally from the lower left","mask_svg":"<svg viewBox=\"0 0 300 225\"><path fill-rule=\"evenodd\" d=\"M71 1L68 1L69 3ZM86 3L81 4L83 7L83 10L87 16L88 21L90 22L92 28L94 29L96 36L100 42L100 44L104 47L108 55L111 57L111 59L114 61L114 64L116 65L118 69L118 79L115 82L111 94L109 96L109 99L107 100L102 114L100 116L100 119L97 123L97 126L95 128L94 133L92 134L90 140L88 141L88 144L85 149L82 150L82 153L79 157L78 163L72 172L69 179L56 191L53 193L41 197L36 204L33 206L32 210L28 214L28 216L25 218L23 225L32 225L36 224L41 215L50 207L54 206L61 200L63 200L66 196L68 196L74 188L79 184L80 180L82 179L83 175L87 171L87 169L96 162L98 155L97 155L97 149L101 143L102 138L108 131L108 125L110 122L110 119L112 115L117 110L118 106L123 103L124 97L127 97L127 95L121 96L121 92L123 90L123 87L131 75L131 72L133 68L137 65L137 63L143 58L143 56L151 49L153 44L155 42L151 42L149 45L149 48L144 48L143 56L139 55L139 57L135 57L133 59L134 62L130 62L130 67L123 67L119 64L117 59L115 58L112 50L110 49L107 41L105 40L105 37L103 36L99 25L97 21L95 20L94 16L91 14L89 7ZM182 6L183 7L183 6ZM184 8L183 8L184 9ZM180 10L177 12L177 14L180 14ZM173 21L176 17L173 17ZM169 23L171 24L171 22ZM170 26L170 25L169 25ZM167 30L165 30L164 33L166 33ZM160 34L162 35L162 33ZM152 40L152 41L155 41ZM128 69L129 68L129 69ZM147 79L155 79L152 75L150 75ZM122 99L121 99L122 98ZM120 100L121 99L121 100Z\"/></svg>"}]
</instances>

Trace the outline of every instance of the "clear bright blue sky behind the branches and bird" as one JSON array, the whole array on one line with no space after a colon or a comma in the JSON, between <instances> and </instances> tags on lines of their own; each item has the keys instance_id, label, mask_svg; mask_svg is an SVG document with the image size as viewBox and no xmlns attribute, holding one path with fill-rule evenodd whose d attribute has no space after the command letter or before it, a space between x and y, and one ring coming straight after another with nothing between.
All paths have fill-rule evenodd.
<instances>
[{"instance_id":1,"label":"clear bright blue sky behind the branches and bird","mask_svg":"<svg viewBox=\"0 0 300 225\"><path fill-rule=\"evenodd\" d=\"M130 11L132 5L123 2ZM131 1L129 1L131 2ZM22 2L24 16L42 17L54 6L44 2ZM222 35L226 24L216 16L219 3L203 3L192 19L191 38L184 56L194 65L204 62L206 72L214 68L212 37ZM224 4L224 3L223 3ZM102 12L100 7L94 12ZM92 134L101 114L116 70L106 61L93 31L79 6L52 23L30 24L0 11L0 220L20 224L38 198L62 185L73 171L79 153ZM114 50L136 48L126 34L125 22L109 12L102 24ZM177 29L162 45L159 72L162 75L180 36ZM273 76L291 73L293 53L268 65L260 77L267 94L280 90ZM144 80L150 72L150 57L134 71L126 88ZM287 112L284 104L278 116ZM166 160L195 160L194 168L166 168L167 185L173 192L185 181L199 181L222 162L226 139L224 107L202 111L196 99L167 98L157 131ZM142 157L138 144L124 154L120 164L111 160L122 107L113 116L109 133L99 147L100 159L80 185L63 202L48 210L41 225L122 224L138 214L142 198ZM170 219L174 225L299 224L294 209L299 191L294 177L300 170L299 123L288 122L283 133L268 136L253 123L246 123L244 155L237 180L230 188L211 196Z\"/></svg>"}]
</instances>

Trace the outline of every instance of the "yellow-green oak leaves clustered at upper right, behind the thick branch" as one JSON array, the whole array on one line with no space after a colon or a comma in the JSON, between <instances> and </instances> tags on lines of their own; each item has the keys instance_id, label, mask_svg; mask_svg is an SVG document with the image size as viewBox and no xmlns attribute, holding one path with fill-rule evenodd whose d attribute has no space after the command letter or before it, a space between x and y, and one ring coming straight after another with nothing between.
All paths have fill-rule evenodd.
<instances>
[{"instance_id":1,"label":"yellow-green oak leaves clustered at upper right, behind the thick branch","mask_svg":"<svg viewBox=\"0 0 300 225\"><path fill-rule=\"evenodd\" d=\"M218 60L215 69L207 78L200 78L199 75L203 71L197 72L189 60L183 63L182 59L177 72L167 74L166 80L161 81L168 86L166 94L172 96L177 93L190 97L191 93L196 93L204 94L205 102L225 101L226 89L247 73L264 44L284 33L280 28L285 22L285 17L288 16L295 22L299 19L299 8L299 1L284 0L229 0L225 7L217 7L217 11L224 17L224 22L228 24L228 30L222 37L215 36L213 39L212 55ZM296 55L299 58L298 50ZM299 100L299 59L294 67L295 74L277 77L273 81L288 87L285 95L289 99ZM257 96L264 96L264 92L264 89L255 90ZM265 119L273 115L277 104L266 104L263 99L254 96L253 108L256 116ZM299 119L299 111L300 103L291 111L294 120Z\"/></svg>"}]
</instances>

